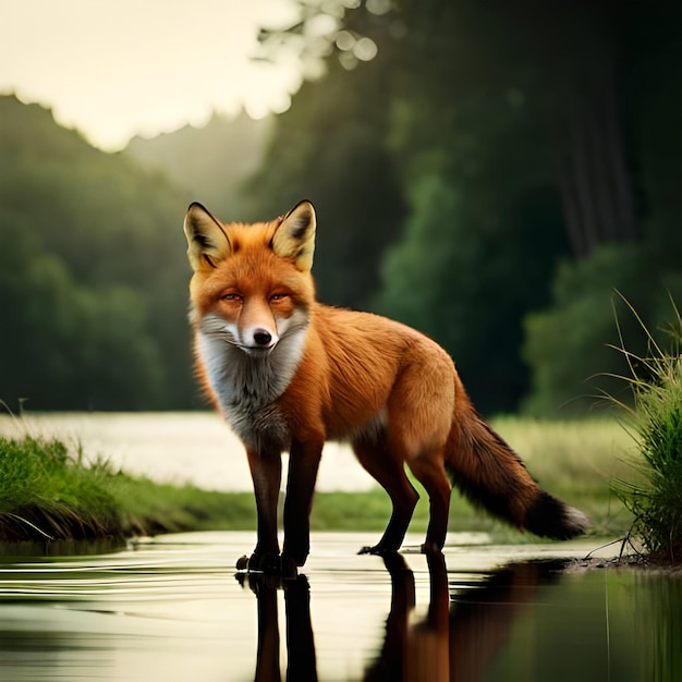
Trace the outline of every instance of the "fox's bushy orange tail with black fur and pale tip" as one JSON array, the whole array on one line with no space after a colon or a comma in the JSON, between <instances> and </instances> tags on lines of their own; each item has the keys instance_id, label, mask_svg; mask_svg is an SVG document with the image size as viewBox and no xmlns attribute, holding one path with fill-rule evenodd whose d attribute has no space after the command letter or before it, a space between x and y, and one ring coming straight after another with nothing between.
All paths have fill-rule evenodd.
<instances>
[{"instance_id":1,"label":"fox's bushy orange tail with black fur and pale tip","mask_svg":"<svg viewBox=\"0 0 682 682\"><path fill-rule=\"evenodd\" d=\"M470 502L543 537L563 540L587 529L587 516L543 490L519 455L471 404L465 411L460 406L459 412L448 442L446 468Z\"/></svg>"}]
</instances>

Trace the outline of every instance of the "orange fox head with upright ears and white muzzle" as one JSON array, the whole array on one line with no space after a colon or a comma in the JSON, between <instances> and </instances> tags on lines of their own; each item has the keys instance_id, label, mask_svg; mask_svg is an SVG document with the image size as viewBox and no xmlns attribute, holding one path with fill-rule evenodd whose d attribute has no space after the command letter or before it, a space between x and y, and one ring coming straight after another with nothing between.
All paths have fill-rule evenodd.
<instances>
[{"instance_id":1,"label":"orange fox head with upright ears and white muzzle","mask_svg":"<svg viewBox=\"0 0 682 682\"><path fill-rule=\"evenodd\" d=\"M306 200L285 216L253 224L222 223L192 204L184 231L197 330L257 356L305 329L315 297L315 209Z\"/></svg>"}]
</instances>

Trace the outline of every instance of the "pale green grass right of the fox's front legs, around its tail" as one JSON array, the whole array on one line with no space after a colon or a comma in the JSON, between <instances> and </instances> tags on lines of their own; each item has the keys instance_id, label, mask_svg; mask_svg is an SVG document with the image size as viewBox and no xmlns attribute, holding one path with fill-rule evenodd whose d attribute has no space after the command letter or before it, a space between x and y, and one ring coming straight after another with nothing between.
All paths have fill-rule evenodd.
<instances>
[{"instance_id":1,"label":"pale green grass right of the fox's front legs, around its tail","mask_svg":"<svg viewBox=\"0 0 682 682\"><path fill-rule=\"evenodd\" d=\"M501 416L492 418L490 424L546 490L589 516L592 535L610 538L626 534L632 513L613 490L612 482L631 471L628 459L633 443L614 418L543 421ZM428 498L418 483L413 480L413 484L421 498L410 531L425 533ZM317 492L310 526L380 533L390 513L390 501L381 489L357 494ZM473 509L456 489L450 504L449 529L483 531L500 543L538 541L535 536Z\"/></svg>"}]
</instances>

